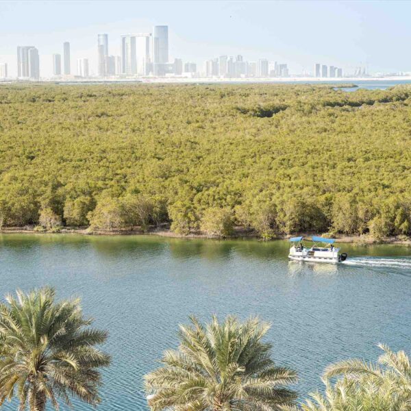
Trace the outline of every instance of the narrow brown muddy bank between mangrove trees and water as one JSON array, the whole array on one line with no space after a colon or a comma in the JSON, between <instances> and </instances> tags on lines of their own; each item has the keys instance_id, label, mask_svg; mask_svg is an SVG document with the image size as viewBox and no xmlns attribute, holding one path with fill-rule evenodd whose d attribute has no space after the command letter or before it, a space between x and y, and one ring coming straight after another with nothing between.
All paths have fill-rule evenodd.
<instances>
[{"instance_id":1,"label":"narrow brown muddy bank between mangrove trees and water","mask_svg":"<svg viewBox=\"0 0 411 411\"><path fill-rule=\"evenodd\" d=\"M147 232L143 232L142 230L138 229L117 229L117 230L96 230L94 232L88 231L88 228L73 228L73 227L66 227L61 229L59 232L39 232L34 230L31 227L3 227L0 229L0 234L77 234L80 236L158 236L158 237L166 237L166 238L185 238L185 239L204 239L204 240L240 240L244 238L255 239L255 240L262 240L259 236L256 235L255 232L249 231L242 227L236 227L234 229L234 234L232 236L221 238L221 237L210 237L206 234L177 234L172 232L170 229L167 228L160 228L160 229L151 229ZM303 237L310 237L314 233L299 233L299 235ZM273 240L288 240L292 235L287 234L276 234L275 237L271 238L270 240L266 241L273 241ZM351 243L356 245L377 245L377 244L393 244L393 245L406 245L411 247L411 238L407 240L403 240L401 238L390 236L386 237L382 240L375 240L369 236L362 235L362 236L344 236L344 235L336 235L333 236L336 238L336 242L342 243Z\"/></svg>"}]
</instances>

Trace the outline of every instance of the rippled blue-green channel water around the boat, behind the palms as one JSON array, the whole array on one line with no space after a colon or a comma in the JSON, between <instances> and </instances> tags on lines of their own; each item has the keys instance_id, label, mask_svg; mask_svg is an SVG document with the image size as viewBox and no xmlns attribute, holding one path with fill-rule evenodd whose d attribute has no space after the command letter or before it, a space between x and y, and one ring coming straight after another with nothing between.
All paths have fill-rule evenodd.
<instances>
[{"instance_id":1,"label":"rippled blue-green channel water around the boat, behind the palms","mask_svg":"<svg viewBox=\"0 0 411 411\"><path fill-rule=\"evenodd\" d=\"M99 410L146 409L142 375L191 313L270 321L273 357L298 370L303 396L329 362L373 359L379 342L411 351L411 247L343 249L350 259L333 266L289 262L285 241L3 234L0 295L51 284L82 297L110 331Z\"/></svg>"}]
</instances>

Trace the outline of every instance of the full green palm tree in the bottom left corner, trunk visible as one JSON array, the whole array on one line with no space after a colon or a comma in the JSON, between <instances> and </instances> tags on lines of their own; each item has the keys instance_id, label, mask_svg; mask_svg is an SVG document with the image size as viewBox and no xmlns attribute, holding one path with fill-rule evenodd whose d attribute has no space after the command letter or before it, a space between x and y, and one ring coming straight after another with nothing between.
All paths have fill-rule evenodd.
<instances>
[{"instance_id":1,"label":"full green palm tree in the bottom left corner, trunk visible","mask_svg":"<svg viewBox=\"0 0 411 411\"><path fill-rule=\"evenodd\" d=\"M0 303L0 405L14 394L19 410L43 411L47 400L70 397L99 403L101 366L110 357L99 345L107 332L90 328L79 299L55 302L53 288L32 290Z\"/></svg>"}]
</instances>

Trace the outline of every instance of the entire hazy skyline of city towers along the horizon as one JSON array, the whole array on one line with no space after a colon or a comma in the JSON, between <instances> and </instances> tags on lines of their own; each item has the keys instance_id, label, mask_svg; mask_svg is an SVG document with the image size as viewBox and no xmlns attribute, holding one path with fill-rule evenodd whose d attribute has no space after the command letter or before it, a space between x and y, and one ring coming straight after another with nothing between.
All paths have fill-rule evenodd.
<instances>
[{"instance_id":1,"label":"entire hazy skyline of city towers along the horizon","mask_svg":"<svg viewBox=\"0 0 411 411\"><path fill-rule=\"evenodd\" d=\"M62 53L53 54L53 77L97 76L119 78L136 76L162 77L183 75L189 77L289 77L287 64L270 62L265 58L247 61L242 55L235 58L220 55L206 60L199 69L195 62L183 62L182 59L170 60L169 27L156 25L151 32L124 34L120 38L120 55L110 53L108 34L97 35L97 70L92 70L88 58L77 59L72 72L70 43L64 42ZM356 77L362 77L365 70L358 70ZM0 64L0 79L8 77L8 65ZM40 58L34 46L17 47L17 76L19 79L40 79ZM312 77L343 77L343 69L325 64L314 64Z\"/></svg>"}]
</instances>

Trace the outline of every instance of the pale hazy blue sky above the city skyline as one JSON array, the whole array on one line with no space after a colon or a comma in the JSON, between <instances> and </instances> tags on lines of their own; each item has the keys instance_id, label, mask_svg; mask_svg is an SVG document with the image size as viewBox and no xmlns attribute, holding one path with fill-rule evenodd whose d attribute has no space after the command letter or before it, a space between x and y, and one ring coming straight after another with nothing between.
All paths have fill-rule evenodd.
<instances>
[{"instance_id":1,"label":"pale hazy blue sky above the city skyline","mask_svg":"<svg viewBox=\"0 0 411 411\"><path fill-rule=\"evenodd\" d=\"M169 25L170 60L202 64L219 55L287 63L368 66L370 73L411 71L411 1L0 1L0 62L16 75L16 47L34 45L40 73L71 43L71 69L89 58L97 71L97 34L120 55L121 34Z\"/></svg>"}]
</instances>

